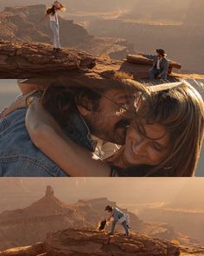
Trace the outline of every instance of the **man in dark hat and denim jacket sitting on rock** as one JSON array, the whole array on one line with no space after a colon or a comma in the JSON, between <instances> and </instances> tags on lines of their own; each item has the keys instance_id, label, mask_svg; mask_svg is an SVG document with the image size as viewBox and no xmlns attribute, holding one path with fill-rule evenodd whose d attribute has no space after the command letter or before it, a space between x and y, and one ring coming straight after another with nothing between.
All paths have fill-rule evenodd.
<instances>
[{"instance_id":1,"label":"man in dark hat and denim jacket sitting on rock","mask_svg":"<svg viewBox=\"0 0 204 256\"><path fill-rule=\"evenodd\" d=\"M150 81L156 78L166 80L169 70L169 61L166 58L167 55L163 49L156 49L155 51L157 53L156 56L143 55L153 60L152 69L149 71Z\"/></svg>"}]
</instances>

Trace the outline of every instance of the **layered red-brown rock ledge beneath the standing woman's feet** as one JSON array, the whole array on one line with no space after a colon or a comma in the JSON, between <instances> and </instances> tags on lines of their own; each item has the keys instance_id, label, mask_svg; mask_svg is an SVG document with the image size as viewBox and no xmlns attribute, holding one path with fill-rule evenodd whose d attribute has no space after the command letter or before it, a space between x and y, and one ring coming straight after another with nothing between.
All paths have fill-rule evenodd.
<instances>
[{"instance_id":1,"label":"layered red-brown rock ledge beneath the standing woman's feet","mask_svg":"<svg viewBox=\"0 0 204 256\"><path fill-rule=\"evenodd\" d=\"M48 75L95 65L94 57L71 49L54 52L48 43L0 41L0 77L17 78Z\"/></svg>"}]
</instances>

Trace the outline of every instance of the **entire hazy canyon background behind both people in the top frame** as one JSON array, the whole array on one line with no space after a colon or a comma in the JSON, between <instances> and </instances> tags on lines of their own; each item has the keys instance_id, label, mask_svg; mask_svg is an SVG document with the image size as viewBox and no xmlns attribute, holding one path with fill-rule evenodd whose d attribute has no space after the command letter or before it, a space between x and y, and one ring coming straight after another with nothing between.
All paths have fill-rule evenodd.
<instances>
[{"instance_id":1,"label":"entire hazy canyon background behind both people in the top frame","mask_svg":"<svg viewBox=\"0 0 204 256\"><path fill-rule=\"evenodd\" d=\"M49 3L44 1L47 6ZM60 17L63 47L117 59L163 48L170 59L182 63L182 72L203 74L202 0L64 3L67 12ZM23 0L1 3L1 39L50 43L48 21L38 23L46 6L40 0L32 4Z\"/></svg>"}]
</instances>

